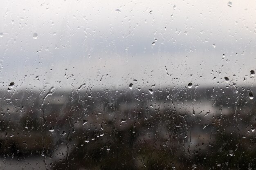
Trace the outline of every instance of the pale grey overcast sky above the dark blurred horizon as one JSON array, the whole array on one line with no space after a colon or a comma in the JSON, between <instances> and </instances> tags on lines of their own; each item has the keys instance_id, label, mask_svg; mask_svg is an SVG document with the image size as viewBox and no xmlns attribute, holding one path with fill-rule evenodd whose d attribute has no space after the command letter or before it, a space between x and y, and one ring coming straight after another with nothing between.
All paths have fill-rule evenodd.
<instances>
[{"instance_id":1,"label":"pale grey overcast sky above the dark blurred horizon","mask_svg":"<svg viewBox=\"0 0 256 170\"><path fill-rule=\"evenodd\" d=\"M253 0L4 1L4 88L255 84Z\"/></svg>"}]
</instances>

